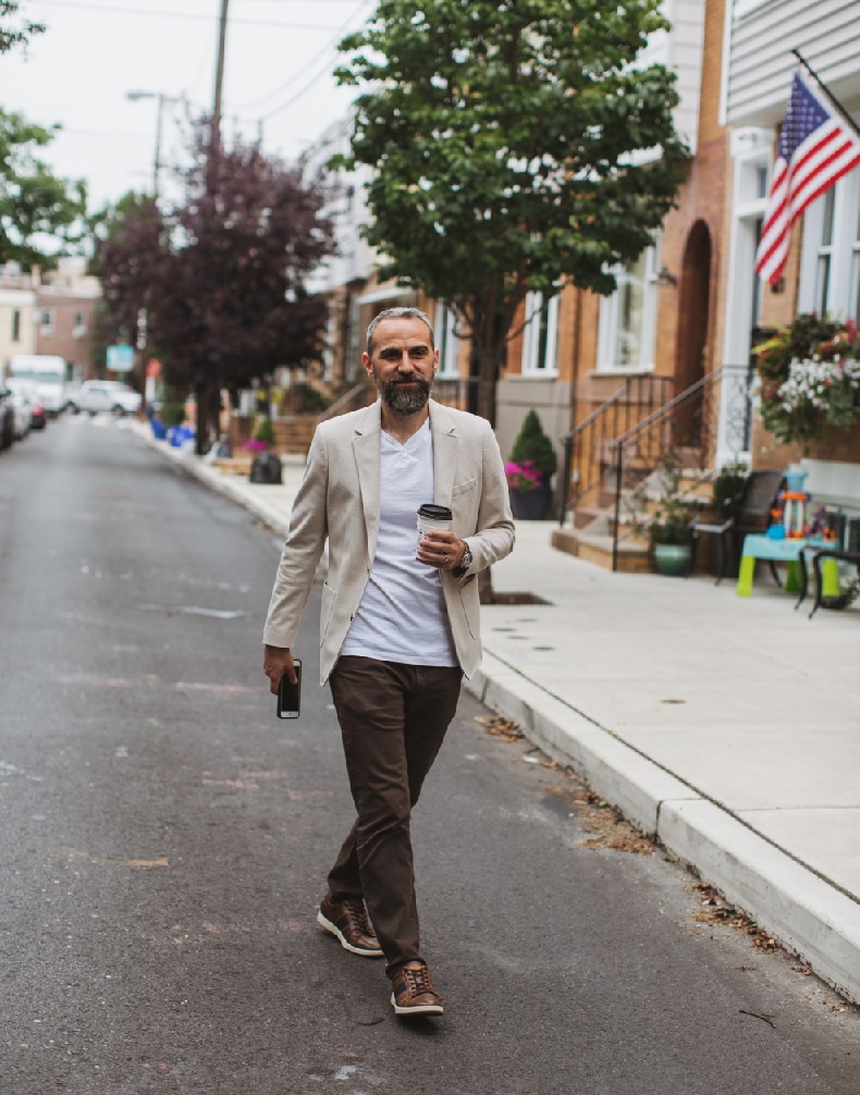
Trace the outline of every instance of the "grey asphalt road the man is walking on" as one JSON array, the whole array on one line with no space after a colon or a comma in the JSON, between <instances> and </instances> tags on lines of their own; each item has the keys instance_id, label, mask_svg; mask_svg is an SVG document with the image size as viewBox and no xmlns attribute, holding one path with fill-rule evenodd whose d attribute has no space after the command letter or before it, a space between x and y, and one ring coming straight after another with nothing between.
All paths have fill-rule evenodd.
<instances>
[{"instance_id":1,"label":"grey asphalt road the man is walking on","mask_svg":"<svg viewBox=\"0 0 860 1095\"><path fill-rule=\"evenodd\" d=\"M860 1093L858 1010L468 695L413 823L446 1013L395 1019L314 923L352 804L316 593L274 717L276 563L114 422L0 456L3 1095Z\"/></svg>"}]
</instances>

